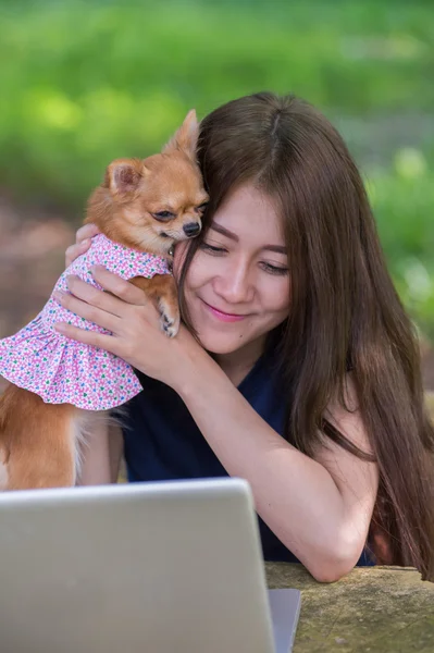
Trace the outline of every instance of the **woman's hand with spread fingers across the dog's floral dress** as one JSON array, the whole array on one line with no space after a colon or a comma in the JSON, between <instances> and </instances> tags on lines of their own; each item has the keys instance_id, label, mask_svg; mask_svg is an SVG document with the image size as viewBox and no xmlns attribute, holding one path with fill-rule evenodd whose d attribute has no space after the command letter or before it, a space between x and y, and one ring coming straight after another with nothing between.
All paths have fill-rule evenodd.
<instances>
[{"instance_id":1,"label":"woman's hand with spread fingers across the dog's floral dress","mask_svg":"<svg viewBox=\"0 0 434 653\"><path fill-rule=\"evenodd\" d=\"M54 329L66 337L111 352L145 374L176 387L182 382L183 370L194 362L199 352L204 354L203 349L185 326L176 337L169 338L161 331L157 308L138 287L100 266L96 266L92 273L107 293L71 275L67 285L72 294L55 293L54 298L111 334L85 331L63 322Z\"/></svg>"}]
</instances>

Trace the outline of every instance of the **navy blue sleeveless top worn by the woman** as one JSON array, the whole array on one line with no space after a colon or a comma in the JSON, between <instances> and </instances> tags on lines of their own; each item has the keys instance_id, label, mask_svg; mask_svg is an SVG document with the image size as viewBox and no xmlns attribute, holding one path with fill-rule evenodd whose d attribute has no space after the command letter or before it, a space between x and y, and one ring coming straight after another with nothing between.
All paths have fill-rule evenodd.
<instances>
[{"instance_id":1,"label":"navy blue sleeveless top worn by the woman","mask_svg":"<svg viewBox=\"0 0 434 653\"><path fill-rule=\"evenodd\" d=\"M123 419L125 460L131 482L203 479L227 476L226 470L200 433L184 402L171 387L137 375L144 391L126 406ZM238 385L255 410L281 435L284 434L284 384L264 354ZM287 399L286 399L287 401ZM259 519L265 560L299 562ZM363 553L359 565L372 564Z\"/></svg>"}]
</instances>

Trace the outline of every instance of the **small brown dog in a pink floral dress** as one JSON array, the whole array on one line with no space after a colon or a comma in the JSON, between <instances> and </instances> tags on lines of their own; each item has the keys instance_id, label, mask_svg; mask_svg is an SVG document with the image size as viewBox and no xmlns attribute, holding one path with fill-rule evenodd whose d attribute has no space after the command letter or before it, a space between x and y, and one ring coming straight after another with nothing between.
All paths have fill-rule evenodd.
<instances>
[{"instance_id":1,"label":"small brown dog in a pink floral dress","mask_svg":"<svg viewBox=\"0 0 434 653\"><path fill-rule=\"evenodd\" d=\"M89 269L102 263L127 279L156 301L170 337L177 333L179 310L169 252L174 243L198 235L208 201L196 162L198 132L190 111L161 153L108 167L85 219L100 234L66 271L97 286ZM65 274L55 289L67 289ZM10 381L0 397L3 490L74 485L86 431L140 391L125 361L57 333L53 323L64 320L104 331L50 297L26 328L0 341L0 373Z\"/></svg>"}]
</instances>

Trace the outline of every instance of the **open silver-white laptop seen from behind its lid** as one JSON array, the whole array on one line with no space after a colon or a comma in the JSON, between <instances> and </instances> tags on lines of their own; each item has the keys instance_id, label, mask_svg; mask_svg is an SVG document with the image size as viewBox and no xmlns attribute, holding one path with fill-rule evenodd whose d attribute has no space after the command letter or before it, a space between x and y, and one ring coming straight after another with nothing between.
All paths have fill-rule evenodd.
<instances>
[{"instance_id":1,"label":"open silver-white laptop seen from behind its lid","mask_svg":"<svg viewBox=\"0 0 434 653\"><path fill-rule=\"evenodd\" d=\"M243 480L0 494L4 653L288 653L299 609Z\"/></svg>"}]
</instances>

